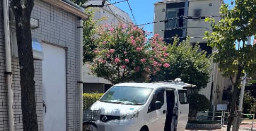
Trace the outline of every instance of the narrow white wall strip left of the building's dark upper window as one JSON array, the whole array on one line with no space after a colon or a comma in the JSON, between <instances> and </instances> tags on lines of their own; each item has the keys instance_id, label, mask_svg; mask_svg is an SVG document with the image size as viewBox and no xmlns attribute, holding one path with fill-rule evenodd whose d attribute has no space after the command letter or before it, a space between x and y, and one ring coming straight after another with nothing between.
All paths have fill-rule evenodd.
<instances>
[{"instance_id":1,"label":"narrow white wall strip left of the building's dark upper window","mask_svg":"<svg viewBox=\"0 0 256 131\"><path fill-rule=\"evenodd\" d=\"M164 12L163 12L164 9ZM166 19L166 3L155 4L154 22ZM159 34L159 37L164 38L165 22L158 22L154 24L154 34Z\"/></svg>"}]
</instances>

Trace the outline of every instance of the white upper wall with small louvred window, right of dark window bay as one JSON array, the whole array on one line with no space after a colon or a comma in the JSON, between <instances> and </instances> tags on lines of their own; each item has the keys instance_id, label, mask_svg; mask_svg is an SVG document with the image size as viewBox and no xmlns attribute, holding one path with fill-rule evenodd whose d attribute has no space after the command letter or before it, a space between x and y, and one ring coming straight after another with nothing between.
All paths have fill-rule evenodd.
<instances>
[{"instance_id":1,"label":"white upper wall with small louvred window, right of dark window bay","mask_svg":"<svg viewBox=\"0 0 256 131\"><path fill-rule=\"evenodd\" d=\"M212 4L212 6L209 6ZM222 2L220 0L190 0L189 1L189 8L188 8L188 16L194 16L194 10L201 9L201 16L212 16L212 15L220 15L219 8ZM214 18L216 22L220 20L220 17ZM205 31L212 29L210 23L206 23L205 20L188 20L188 27L203 27L203 28L188 28L187 34L190 37L204 37ZM191 42L206 42L206 40L202 38L191 38Z\"/></svg>"}]
</instances>

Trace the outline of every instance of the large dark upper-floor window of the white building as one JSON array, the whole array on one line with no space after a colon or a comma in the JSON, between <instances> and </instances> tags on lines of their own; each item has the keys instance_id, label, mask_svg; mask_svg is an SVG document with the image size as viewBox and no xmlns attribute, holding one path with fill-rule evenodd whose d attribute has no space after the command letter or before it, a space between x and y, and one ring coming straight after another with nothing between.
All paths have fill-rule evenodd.
<instances>
[{"instance_id":1,"label":"large dark upper-floor window of the white building","mask_svg":"<svg viewBox=\"0 0 256 131\"><path fill-rule=\"evenodd\" d=\"M184 8L167 9L166 19L171 20L167 21L166 29L183 27L183 19L177 18L182 15L184 15Z\"/></svg>"}]
</instances>

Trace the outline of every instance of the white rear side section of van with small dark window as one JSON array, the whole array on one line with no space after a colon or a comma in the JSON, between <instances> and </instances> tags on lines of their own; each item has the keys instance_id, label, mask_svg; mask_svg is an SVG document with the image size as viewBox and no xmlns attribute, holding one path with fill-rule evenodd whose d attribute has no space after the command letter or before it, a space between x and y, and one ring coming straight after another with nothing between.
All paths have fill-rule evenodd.
<instances>
[{"instance_id":1,"label":"white rear side section of van with small dark window","mask_svg":"<svg viewBox=\"0 0 256 131\"><path fill-rule=\"evenodd\" d=\"M188 122L188 99L186 90L178 90L178 123L177 130L185 130Z\"/></svg>"}]
</instances>

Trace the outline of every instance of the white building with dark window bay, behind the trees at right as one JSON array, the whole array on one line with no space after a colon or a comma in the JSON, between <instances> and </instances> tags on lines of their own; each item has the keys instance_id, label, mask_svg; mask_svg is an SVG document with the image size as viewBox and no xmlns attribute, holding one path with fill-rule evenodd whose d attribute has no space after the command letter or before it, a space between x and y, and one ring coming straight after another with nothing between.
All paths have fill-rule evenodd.
<instances>
[{"instance_id":1,"label":"white building with dark window bay, behind the trees at right","mask_svg":"<svg viewBox=\"0 0 256 131\"><path fill-rule=\"evenodd\" d=\"M164 0L156 2L154 21L161 21L179 16L185 16L185 0ZM187 16L215 16L216 22L220 21L219 8L223 4L222 0L189 0ZM187 22L187 24L186 24ZM199 43L202 50L207 54L212 54L214 49L207 46L204 32L211 32L211 24L206 23L204 19L173 19L167 22L158 22L154 24L154 34L158 33L165 42L172 43L172 37L178 35L183 40L189 35L191 45ZM211 77L205 89L199 93L204 94L212 103L212 106L220 103L227 103L227 94L231 90L229 78L225 78L218 71L217 64L211 65ZM223 97L222 97L223 96Z\"/></svg>"}]
</instances>

